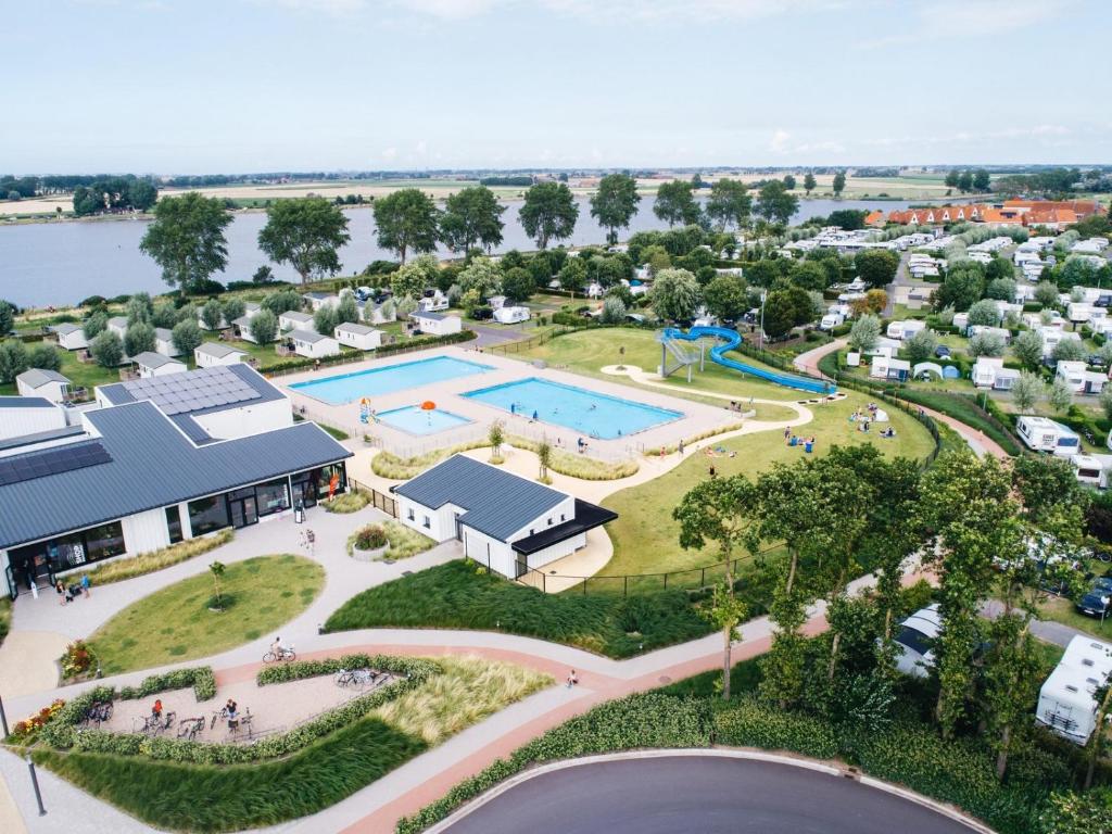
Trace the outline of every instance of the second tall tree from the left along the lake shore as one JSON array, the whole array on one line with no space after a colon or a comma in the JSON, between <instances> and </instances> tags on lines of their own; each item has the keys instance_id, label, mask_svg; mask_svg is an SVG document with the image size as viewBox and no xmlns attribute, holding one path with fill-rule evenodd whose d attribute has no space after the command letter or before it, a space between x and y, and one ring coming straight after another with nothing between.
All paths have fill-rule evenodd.
<instances>
[{"instance_id":1,"label":"second tall tree from the left along the lake shore","mask_svg":"<svg viewBox=\"0 0 1112 834\"><path fill-rule=\"evenodd\" d=\"M338 250L351 239L347 228L347 215L324 197L276 200L259 231L259 249L294 267L305 284L340 270Z\"/></svg>"}]
</instances>

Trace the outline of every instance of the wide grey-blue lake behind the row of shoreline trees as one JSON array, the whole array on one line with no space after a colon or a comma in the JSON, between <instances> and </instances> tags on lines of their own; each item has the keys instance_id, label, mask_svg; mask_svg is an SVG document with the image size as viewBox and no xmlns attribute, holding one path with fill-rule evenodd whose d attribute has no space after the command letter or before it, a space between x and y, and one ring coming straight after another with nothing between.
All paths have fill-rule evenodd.
<instances>
[{"instance_id":1,"label":"wide grey-blue lake behind the row of shoreline trees","mask_svg":"<svg viewBox=\"0 0 1112 834\"><path fill-rule=\"evenodd\" d=\"M575 234L566 244L583 246L605 240L590 217L587 198L578 198L579 220ZM906 208L896 200L801 200L793 222L830 215L835 209L875 209L885 211ZM509 202L503 220L505 240L498 251L533 249L517 220L520 202ZM351 242L340 250L345 274L361 270L373 260L393 258L375 241L375 221L369 208L347 209ZM256 240L266 222L262 212L240 212L228 226L228 268L218 280L249 280L267 258ZM0 227L0 298L22 307L76 304L92 295L112 297L126 292L161 292L167 289L155 262L139 251L139 240L147 222L143 220L106 220L102 222L44 222ZM663 229L667 225L653 214L652 198L642 198L639 211L628 232ZM440 252L447 255L447 252ZM279 278L296 279L289 267L271 265Z\"/></svg>"}]
</instances>

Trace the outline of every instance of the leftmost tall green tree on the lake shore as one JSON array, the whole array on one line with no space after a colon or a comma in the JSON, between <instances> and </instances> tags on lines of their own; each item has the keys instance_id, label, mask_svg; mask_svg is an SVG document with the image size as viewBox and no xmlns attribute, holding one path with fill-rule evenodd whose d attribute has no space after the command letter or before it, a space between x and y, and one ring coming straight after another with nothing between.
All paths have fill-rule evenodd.
<instances>
[{"instance_id":1,"label":"leftmost tall green tree on the lake shore","mask_svg":"<svg viewBox=\"0 0 1112 834\"><path fill-rule=\"evenodd\" d=\"M224 230L231 222L224 201L188 191L155 205L155 220L139 242L139 250L162 269L162 280L185 295L228 265Z\"/></svg>"}]
</instances>

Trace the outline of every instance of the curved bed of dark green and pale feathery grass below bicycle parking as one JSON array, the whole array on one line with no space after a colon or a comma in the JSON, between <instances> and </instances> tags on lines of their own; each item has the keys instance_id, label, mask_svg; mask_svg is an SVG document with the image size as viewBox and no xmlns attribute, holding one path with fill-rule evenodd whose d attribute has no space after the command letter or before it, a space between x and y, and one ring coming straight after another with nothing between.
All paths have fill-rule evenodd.
<instances>
[{"instance_id":1,"label":"curved bed of dark green and pale feathery grass below bicycle parking","mask_svg":"<svg viewBox=\"0 0 1112 834\"><path fill-rule=\"evenodd\" d=\"M224 832L316 813L552 683L508 663L437 658L434 675L397 701L285 758L188 765L38 749L36 761L95 796L167 831Z\"/></svg>"}]
</instances>

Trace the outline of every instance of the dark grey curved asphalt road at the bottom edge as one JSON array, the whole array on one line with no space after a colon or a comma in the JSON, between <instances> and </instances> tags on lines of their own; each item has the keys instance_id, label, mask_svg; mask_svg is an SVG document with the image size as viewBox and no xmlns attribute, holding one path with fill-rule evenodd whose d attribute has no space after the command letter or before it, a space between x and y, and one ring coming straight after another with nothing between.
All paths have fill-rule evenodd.
<instances>
[{"instance_id":1,"label":"dark grey curved asphalt road at the bottom edge","mask_svg":"<svg viewBox=\"0 0 1112 834\"><path fill-rule=\"evenodd\" d=\"M791 765L718 756L625 759L528 780L450 834L969 834L929 808Z\"/></svg>"}]
</instances>

